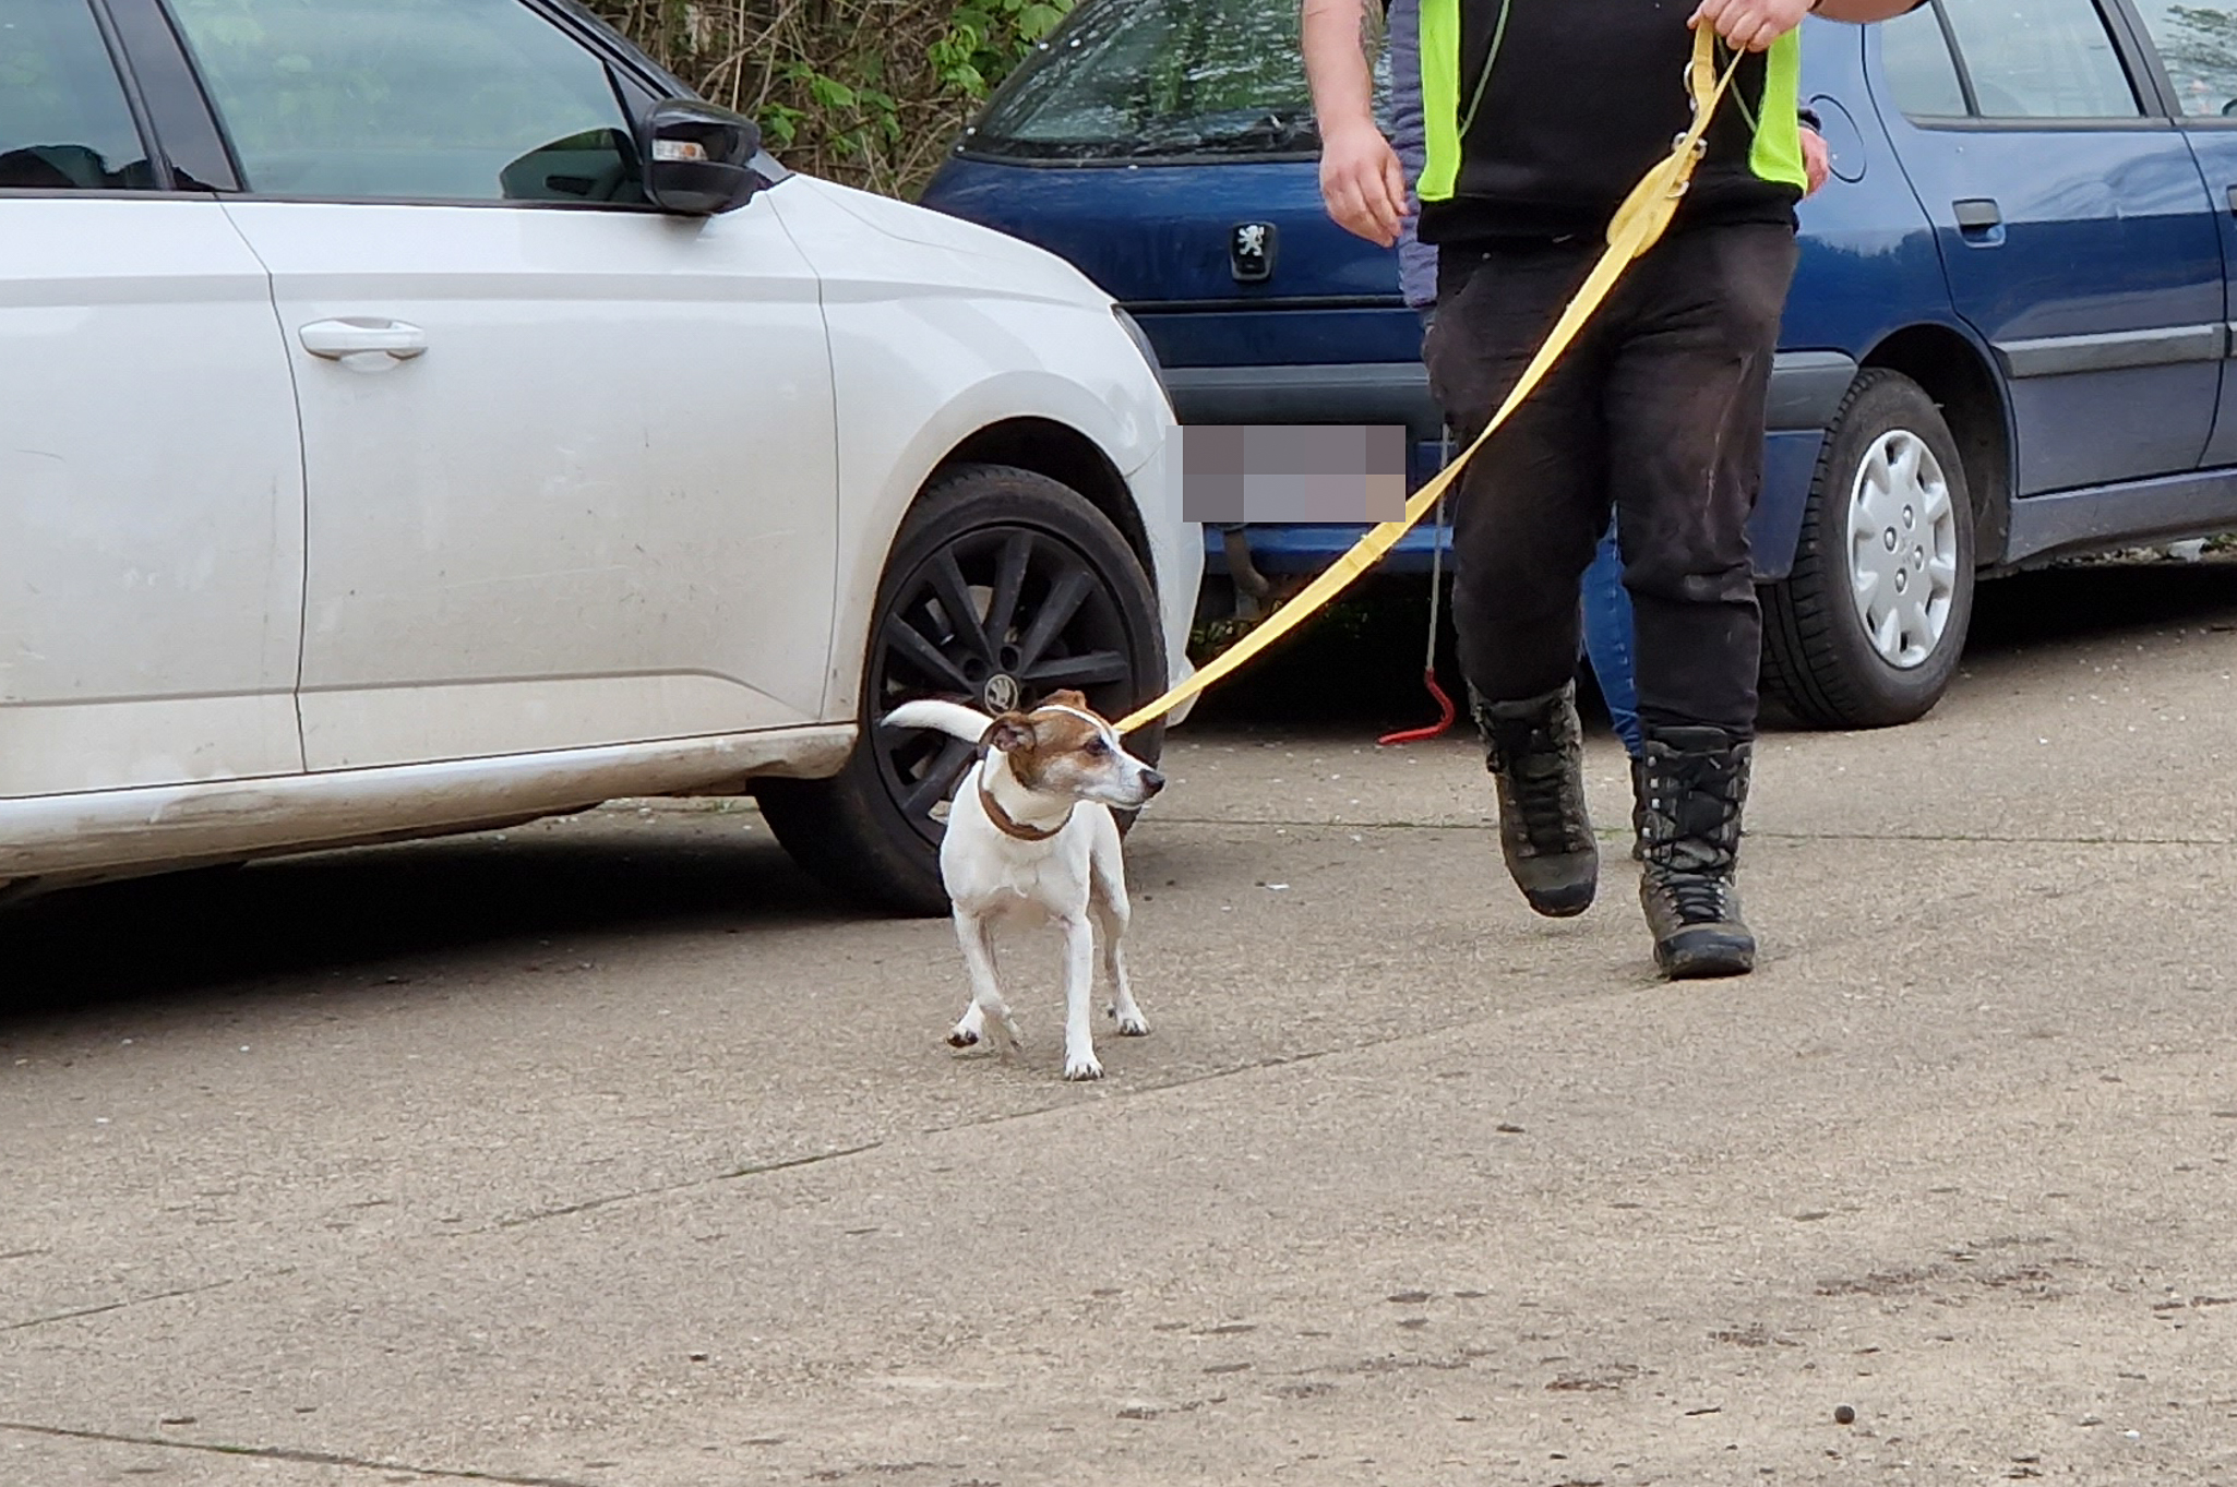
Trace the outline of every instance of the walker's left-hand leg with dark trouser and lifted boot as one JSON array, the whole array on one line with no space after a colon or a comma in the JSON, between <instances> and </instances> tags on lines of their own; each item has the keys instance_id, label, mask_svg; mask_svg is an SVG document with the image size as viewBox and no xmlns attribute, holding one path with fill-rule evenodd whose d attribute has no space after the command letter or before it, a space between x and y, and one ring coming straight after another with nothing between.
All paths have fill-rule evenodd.
<instances>
[{"instance_id":1,"label":"walker's left-hand leg with dark trouser and lifted boot","mask_svg":"<svg viewBox=\"0 0 2237 1487\"><path fill-rule=\"evenodd\" d=\"M1588 244L1441 255L1429 385L1463 441L1514 387L1591 268ZM1588 333L1470 463L1454 512L1452 622L1499 787L1499 843L1541 915L1593 903L1599 850L1577 727L1579 575L1608 523Z\"/></svg>"}]
</instances>

